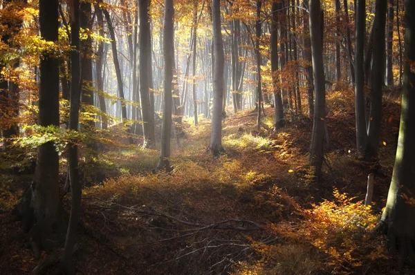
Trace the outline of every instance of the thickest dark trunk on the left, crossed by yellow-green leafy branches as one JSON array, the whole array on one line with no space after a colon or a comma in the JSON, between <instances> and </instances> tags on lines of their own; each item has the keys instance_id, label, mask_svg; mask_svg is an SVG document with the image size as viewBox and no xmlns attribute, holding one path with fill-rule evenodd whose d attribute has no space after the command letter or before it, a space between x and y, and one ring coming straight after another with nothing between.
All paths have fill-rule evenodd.
<instances>
[{"instance_id":1,"label":"thickest dark trunk on the left, crossed by yellow-green leafy branches","mask_svg":"<svg viewBox=\"0 0 415 275\"><path fill-rule=\"evenodd\" d=\"M42 39L57 43L58 1L39 1L39 26ZM40 60L39 120L40 126L59 127L59 61L53 53L44 53ZM30 233L38 246L50 249L50 240L57 229L58 239L64 236L62 206L59 200L59 155L52 141L37 148L35 179L31 186L36 222Z\"/></svg>"}]
</instances>

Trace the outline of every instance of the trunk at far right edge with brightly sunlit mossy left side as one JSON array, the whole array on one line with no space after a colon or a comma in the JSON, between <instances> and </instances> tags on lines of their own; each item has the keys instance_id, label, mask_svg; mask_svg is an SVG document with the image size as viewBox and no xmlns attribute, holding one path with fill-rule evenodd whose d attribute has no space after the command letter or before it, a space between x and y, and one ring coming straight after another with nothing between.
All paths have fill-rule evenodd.
<instances>
[{"instance_id":1,"label":"trunk at far right edge with brightly sunlit mossy left side","mask_svg":"<svg viewBox=\"0 0 415 275\"><path fill-rule=\"evenodd\" d=\"M415 2L405 0L405 68L398 148L386 208L380 228L389 238L391 251L400 252L400 263L415 260Z\"/></svg>"}]
</instances>

